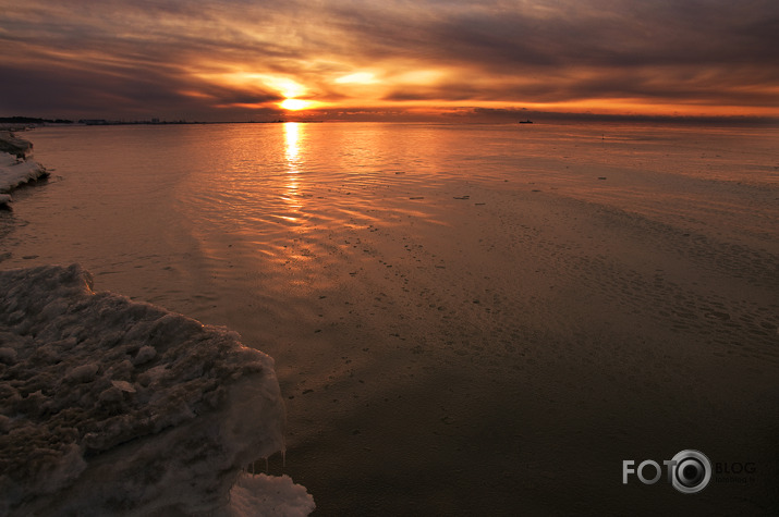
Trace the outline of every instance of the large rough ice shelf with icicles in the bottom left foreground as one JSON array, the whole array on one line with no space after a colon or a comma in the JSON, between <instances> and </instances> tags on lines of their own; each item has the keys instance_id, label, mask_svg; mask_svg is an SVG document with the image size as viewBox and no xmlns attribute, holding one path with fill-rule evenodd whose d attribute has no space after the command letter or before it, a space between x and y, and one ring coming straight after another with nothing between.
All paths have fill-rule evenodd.
<instances>
[{"instance_id":1,"label":"large rough ice shelf with icicles in the bottom left foreground","mask_svg":"<svg viewBox=\"0 0 779 517\"><path fill-rule=\"evenodd\" d=\"M77 264L0 272L0 515L306 515L305 488L241 475L283 423L273 360L235 333Z\"/></svg>"}]
</instances>

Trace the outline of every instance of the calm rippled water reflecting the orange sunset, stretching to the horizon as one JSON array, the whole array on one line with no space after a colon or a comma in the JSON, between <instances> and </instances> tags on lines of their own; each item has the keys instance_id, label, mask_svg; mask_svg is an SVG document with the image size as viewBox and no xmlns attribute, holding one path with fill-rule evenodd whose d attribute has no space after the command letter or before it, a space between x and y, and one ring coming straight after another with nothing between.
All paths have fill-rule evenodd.
<instances>
[{"instance_id":1,"label":"calm rippled water reflecting the orange sunset, stretching to the horizon","mask_svg":"<svg viewBox=\"0 0 779 517\"><path fill-rule=\"evenodd\" d=\"M52 180L0 214L2 267L77 261L273 356L289 453L271 470L322 515L777 507L779 130L28 138ZM682 503L620 484L622 459L689 447L763 477Z\"/></svg>"}]
</instances>

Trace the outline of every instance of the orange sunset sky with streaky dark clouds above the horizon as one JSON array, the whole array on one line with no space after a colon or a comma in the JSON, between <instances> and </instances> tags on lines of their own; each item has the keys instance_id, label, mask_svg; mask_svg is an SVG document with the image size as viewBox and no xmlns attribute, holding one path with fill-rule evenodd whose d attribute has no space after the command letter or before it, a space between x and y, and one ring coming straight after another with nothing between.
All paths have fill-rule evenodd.
<instances>
[{"instance_id":1,"label":"orange sunset sky with streaky dark clouds above the horizon","mask_svg":"<svg viewBox=\"0 0 779 517\"><path fill-rule=\"evenodd\" d=\"M779 116L777 0L0 0L0 116Z\"/></svg>"}]
</instances>

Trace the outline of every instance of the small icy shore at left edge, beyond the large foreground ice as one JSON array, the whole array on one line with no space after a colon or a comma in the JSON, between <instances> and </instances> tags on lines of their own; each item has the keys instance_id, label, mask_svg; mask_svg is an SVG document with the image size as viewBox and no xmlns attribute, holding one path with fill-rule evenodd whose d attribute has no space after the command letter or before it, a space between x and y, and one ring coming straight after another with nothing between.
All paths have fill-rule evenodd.
<instances>
[{"instance_id":1,"label":"small icy shore at left edge, beyond the large foreground ice","mask_svg":"<svg viewBox=\"0 0 779 517\"><path fill-rule=\"evenodd\" d=\"M11 190L46 179L49 173L40 163L29 159L33 144L10 131L0 131L0 207L8 207Z\"/></svg>"}]
</instances>

